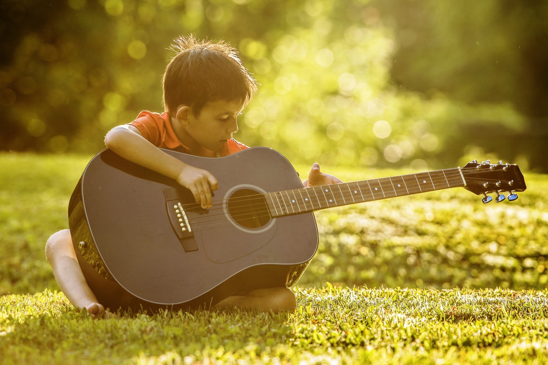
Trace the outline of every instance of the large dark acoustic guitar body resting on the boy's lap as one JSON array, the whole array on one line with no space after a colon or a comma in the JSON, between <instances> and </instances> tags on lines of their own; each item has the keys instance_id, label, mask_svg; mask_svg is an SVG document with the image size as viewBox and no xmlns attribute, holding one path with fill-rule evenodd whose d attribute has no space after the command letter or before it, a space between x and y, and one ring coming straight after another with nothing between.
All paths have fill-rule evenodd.
<instances>
[{"instance_id":1,"label":"large dark acoustic guitar body resting on the boy's lap","mask_svg":"<svg viewBox=\"0 0 548 365\"><path fill-rule=\"evenodd\" d=\"M212 208L203 210L190 190L110 149L89 162L72 193L73 245L100 303L149 312L209 308L299 279L318 246L313 213L273 218L256 198L302 188L281 154L264 147L221 158L164 152L215 176Z\"/></svg>"}]
</instances>

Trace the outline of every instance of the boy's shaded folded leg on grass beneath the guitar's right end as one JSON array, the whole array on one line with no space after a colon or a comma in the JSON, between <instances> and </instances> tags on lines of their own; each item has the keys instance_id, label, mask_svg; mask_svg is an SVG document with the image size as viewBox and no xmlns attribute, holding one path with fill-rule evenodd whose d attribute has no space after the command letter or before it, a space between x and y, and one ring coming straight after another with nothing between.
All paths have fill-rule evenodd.
<instances>
[{"instance_id":1,"label":"boy's shaded folded leg on grass beneath the guitar's right end","mask_svg":"<svg viewBox=\"0 0 548 365\"><path fill-rule=\"evenodd\" d=\"M295 294L288 288L267 288L256 289L245 296L232 296L220 303L216 304L213 308L218 309L258 309L262 311L272 310L275 313L286 310L295 311L297 302Z\"/></svg>"}]
</instances>

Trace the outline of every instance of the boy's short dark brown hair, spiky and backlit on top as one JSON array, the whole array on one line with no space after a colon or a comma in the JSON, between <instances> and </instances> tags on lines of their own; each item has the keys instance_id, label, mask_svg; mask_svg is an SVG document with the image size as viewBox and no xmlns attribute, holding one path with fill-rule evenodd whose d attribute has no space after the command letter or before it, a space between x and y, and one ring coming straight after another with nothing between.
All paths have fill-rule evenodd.
<instances>
[{"instance_id":1,"label":"boy's short dark brown hair, spiky and backlit on top","mask_svg":"<svg viewBox=\"0 0 548 365\"><path fill-rule=\"evenodd\" d=\"M243 101L246 106L257 92L257 81L238 57L238 51L220 40L197 40L193 34L174 39L177 52L163 77L164 108L175 117L185 104L198 117L202 108L217 100Z\"/></svg>"}]
</instances>

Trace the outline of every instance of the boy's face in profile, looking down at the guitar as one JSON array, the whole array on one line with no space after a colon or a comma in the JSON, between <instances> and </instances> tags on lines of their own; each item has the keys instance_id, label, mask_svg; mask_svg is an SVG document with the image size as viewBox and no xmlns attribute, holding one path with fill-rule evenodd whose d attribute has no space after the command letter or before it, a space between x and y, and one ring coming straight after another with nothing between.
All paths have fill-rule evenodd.
<instances>
[{"instance_id":1,"label":"boy's face in profile, looking down at the guitar","mask_svg":"<svg viewBox=\"0 0 548 365\"><path fill-rule=\"evenodd\" d=\"M188 113L184 130L203 148L218 151L238 131L236 118L243 109L243 101L218 100L207 103L198 117Z\"/></svg>"}]
</instances>

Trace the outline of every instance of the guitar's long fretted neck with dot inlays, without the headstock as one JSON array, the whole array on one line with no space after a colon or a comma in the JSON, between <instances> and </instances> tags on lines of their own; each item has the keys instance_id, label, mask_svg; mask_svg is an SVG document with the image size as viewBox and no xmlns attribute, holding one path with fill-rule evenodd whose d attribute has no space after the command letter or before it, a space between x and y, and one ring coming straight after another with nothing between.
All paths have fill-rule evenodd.
<instances>
[{"instance_id":1,"label":"guitar's long fretted neck with dot inlays, without the headstock","mask_svg":"<svg viewBox=\"0 0 548 365\"><path fill-rule=\"evenodd\" d=\"M464 187L460 167L410 173L347 183L283 190L264 194L272 217L290 216L325 208Z\"/></svg>"}]
</instances>

